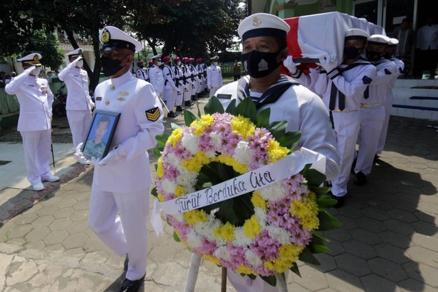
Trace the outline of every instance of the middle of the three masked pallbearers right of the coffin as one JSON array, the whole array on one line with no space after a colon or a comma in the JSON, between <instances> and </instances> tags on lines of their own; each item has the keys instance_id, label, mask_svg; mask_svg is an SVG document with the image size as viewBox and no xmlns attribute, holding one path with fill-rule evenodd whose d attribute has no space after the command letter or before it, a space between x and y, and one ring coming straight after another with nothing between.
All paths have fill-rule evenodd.
<instances>
[{"instance_id":1,"label":"middle of the three masked pallbearers right of the coffin","mask_svg":"<svg viewBox=\"0 0 438 292\"><path fill-rule=\"evenodd\" d=\"M364 94L360 102L361 129L354 170L356 185L365 185L366 176L371 172L385 120L386 88L389 81L397 74L396 64L382 57L388 43L387 36L374 34L368 38L365 50L368 61L376 66L377 75L370 84L369 94Z\"/></svg>"}]
</instances>

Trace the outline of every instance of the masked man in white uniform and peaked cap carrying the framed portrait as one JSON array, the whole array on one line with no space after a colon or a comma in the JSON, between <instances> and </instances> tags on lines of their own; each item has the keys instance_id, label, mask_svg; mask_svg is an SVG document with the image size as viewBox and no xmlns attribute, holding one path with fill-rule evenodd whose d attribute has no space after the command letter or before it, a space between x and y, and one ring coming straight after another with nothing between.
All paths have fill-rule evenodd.
<instances>
[{"instance_id":1,"label":"masked man in white uniform and peaked cap carrying the framed portrait","mask_svg":"<svg viewBox=\"0 0 438 292\"><path fill-rule=\"evenodd\" d=\"M111 78L97 85L96 109L120 113L110 152L92 157L94 175L88 224L120 256L127 254L127 273L120 291L138 291L146 275L151 168L147 150L164 131L158 96L129 69L142 44L116 27L99 32L102 68ZM75 157L83 160L80 149Z\"/></svg>"}]
</instances>

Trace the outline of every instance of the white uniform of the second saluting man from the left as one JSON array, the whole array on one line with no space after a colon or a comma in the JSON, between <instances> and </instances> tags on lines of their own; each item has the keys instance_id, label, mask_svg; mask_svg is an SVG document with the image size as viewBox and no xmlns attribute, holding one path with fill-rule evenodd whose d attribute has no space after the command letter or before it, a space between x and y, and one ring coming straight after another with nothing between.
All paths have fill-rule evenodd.
<instances>
[{"instance_id":1,"label":"white uniform of the second saluting man from the left","mask_svg":"<svg viewBox=\"0 0 438 292\"><path fill-rule=\"evenodd\" d=\"M94 103L88 91L88 75L86 70L76 68L74 63L68 64L60 72L58 78L67 86L67 119L75 148L86 140L88 127L92 119L91 110Z\"/></svg>"}]
</instances>

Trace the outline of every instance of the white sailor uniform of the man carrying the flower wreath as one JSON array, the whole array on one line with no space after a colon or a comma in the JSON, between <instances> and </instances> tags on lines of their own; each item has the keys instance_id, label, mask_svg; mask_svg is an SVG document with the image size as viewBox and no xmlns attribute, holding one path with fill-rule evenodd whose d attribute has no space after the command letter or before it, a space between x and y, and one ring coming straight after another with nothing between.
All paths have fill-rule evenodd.
<instances>
[{"instance_id":1,"label":"white sailor uniform of the man carrying the flower wreath","mask_svg":"<svg viewBox=\"0 0 438 292\"><path fill-rule=\"evenodd\" d=\"M248 80L248 76L243 77ZM233 99L236 105L238 81L224 85L217 91L219 101L226 109ZM331 129L329 113L321 98L302 85L290 86L275 103L262 105L258 110L270 108L270 122L287 120L286 131L301 131L301 140L297 148L305 147L326 157L326 176L333 179L339 174L339 156L336 150L336 140ZM270 286L261 278L251 280L240 276L232 270L227 274L230 282L239 292L275 292L276 287Z\"/></svg>"}]
</instances>

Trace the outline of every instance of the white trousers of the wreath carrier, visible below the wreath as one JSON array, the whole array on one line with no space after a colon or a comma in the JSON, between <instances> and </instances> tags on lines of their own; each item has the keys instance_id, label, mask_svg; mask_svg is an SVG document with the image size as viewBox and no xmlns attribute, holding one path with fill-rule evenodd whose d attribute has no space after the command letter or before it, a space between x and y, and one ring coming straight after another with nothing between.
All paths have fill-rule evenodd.
<instances>
[{"instance_id":1,"label":"white trousers of the wreath carrier, visible below the wreath","mask_svg":"<svg viewBox=\"0 0 438 292\"><path fill-rule=\"evenodd\" d=\"M285 271L286 281L289 271ZM251 280L248 276L240 276L232 269L227 269L228 280L230 280L237 292L278 292L279 289L272 287L260 277Z\"/></svg>"}]
</instances>

